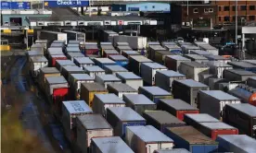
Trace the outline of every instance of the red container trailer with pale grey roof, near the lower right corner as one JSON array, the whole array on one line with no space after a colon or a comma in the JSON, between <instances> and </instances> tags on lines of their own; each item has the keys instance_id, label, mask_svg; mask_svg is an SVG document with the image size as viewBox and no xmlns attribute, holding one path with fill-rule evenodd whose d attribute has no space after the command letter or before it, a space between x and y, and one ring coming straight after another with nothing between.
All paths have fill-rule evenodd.
<instances>
[{"instance_id":1,"label":"red container trailer with pale grey roof, near the lower right corner","mask_svg":"<svg viewBox=\"0 0 256 153\"><path fill-rule=\"evenodd\" d=\"M215 140L218 135L238 135L238 129L228 124L218 123L198 123L198 130Z\"/></svg>"}]
</instances>

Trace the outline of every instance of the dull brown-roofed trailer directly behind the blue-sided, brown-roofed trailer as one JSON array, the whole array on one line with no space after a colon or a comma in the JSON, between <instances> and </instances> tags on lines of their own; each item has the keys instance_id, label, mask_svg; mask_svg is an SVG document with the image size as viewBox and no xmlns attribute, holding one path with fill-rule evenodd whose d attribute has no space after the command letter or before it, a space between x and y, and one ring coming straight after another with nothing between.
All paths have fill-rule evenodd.
<instances>
[{"instance_id":1,"label":"dull brown-roofed trailer directly behind the blue-sided, brown-roofed trailer","mask_svg":"<svg viewBox=\"0 0 256 153\"><path fill-rule=\"evenodd\" d=\"M186 125L186 123L165 111L146 111L142 116L146 119L147 124L154 126L162 133L164 133L166 127L179 127Z\"/></svg>"}]
</instances>

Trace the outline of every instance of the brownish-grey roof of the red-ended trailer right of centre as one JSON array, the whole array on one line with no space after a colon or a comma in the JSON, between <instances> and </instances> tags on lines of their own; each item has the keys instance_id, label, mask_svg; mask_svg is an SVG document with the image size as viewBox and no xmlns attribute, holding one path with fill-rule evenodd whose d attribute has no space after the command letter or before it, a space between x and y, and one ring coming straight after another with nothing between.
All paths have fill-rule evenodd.
<instances>
[{"instance_id":1,"label":"brownish-grey roof of the red-ended trailer right of centre","mask_svg":"<svg viewBox=\"0 0 256 153\"><path fill-rule=\"evenodd\" d=\"M180 99L173 99L173 100L167 100L167 99L160 99L160 102L165 103L166 105L174 108L175 110L198 110L197 108L194 108L190 104L186 103L184 100Z\"/></svg>"}]
</instances>

